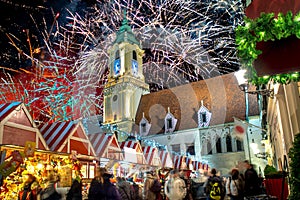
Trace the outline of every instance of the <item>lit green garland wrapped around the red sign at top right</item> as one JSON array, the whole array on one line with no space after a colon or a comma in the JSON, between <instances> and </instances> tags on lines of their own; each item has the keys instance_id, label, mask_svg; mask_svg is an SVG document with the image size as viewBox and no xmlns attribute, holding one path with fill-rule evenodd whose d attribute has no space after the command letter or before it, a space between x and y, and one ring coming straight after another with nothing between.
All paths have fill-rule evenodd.
<instances>
[{"instance_id":1,"label":"lit green garland wrapped around the red sign at top right","mask_svg":"<svg viewBox=\"0 0 300 200\"><path fill-rule=\"evenodd\" d=\"M274 13L262 13L254 20L246 17L244 21L245 25L238 26L235 30L236 45L238 56L247 67L249 82L261 85L267 84L270 80L281 84L300 81L299 72L258 77L253 68L253 62L262 53L256 49L258 42L280 40L292 35L300 39L300 12L295 16L291 11L286 15L279 13L277 18L274 17Z\"/></svg>"}]
</instances>

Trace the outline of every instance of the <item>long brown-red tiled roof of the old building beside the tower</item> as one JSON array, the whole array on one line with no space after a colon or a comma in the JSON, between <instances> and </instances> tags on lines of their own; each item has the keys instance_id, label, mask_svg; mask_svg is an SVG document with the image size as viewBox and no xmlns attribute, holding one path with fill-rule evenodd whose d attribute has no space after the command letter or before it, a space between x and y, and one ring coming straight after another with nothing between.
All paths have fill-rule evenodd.
<instances>
[{"instance_id":1,"label":"long brown-red tiled roof of the old building beside the tower","mask_svg":"<svg viewBox=\"0 0 300 200\"><path fill-rule=\"evenodd\" d=\"M136 124L144 113L151 123L149 135L163 133L164 118L170 107L178 120L175 131L197 128L201 100L212 113L210 126L233 122L233 117L245 119L245 94L231 73L142 96ZM249 116L258 114L257 97L249 94Z\"/></svg>"}]
</instances>

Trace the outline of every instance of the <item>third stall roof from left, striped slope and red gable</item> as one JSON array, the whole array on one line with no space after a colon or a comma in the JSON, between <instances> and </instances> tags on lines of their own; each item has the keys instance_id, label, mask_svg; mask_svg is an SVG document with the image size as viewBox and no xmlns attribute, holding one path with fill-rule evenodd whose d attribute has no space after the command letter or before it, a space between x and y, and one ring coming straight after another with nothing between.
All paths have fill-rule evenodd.
<instances>
[{"instance_id":1,"label":"third stall roof from left, striped slope and red gable","mask_svg":"<svg viewBox=\"0 0 300 200\"><path fill-rule=\"evenodd\" d=\"M123 152L114 134L94 133L88 137L98 157L123 160Z\"/></svg>"}]
</instances>

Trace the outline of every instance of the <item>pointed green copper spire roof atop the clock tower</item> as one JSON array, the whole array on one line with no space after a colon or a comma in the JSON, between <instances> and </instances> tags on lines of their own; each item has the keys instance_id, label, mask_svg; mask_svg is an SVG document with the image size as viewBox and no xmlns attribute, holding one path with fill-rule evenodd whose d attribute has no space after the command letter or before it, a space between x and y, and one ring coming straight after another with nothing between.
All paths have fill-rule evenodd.
<instances>
[{"instance_id":1,"label":"pointed green copper spire roof atop the clock tower","mask_svg":"<svg viewBox=\"0 0 300 200\"><path fill-rule=\"evenodd\" d=\"M131 27L128 25L126 11L124 11L122 26L120 27L120 29L117 33L117 37L116 37L116 40L114 41L114 44L122 43L122 42L129 42L131 44L137 44L137 45L140 44L138 42L138 40L135 38L135 35L132 32Z\"/></svg>"}]
</instances>

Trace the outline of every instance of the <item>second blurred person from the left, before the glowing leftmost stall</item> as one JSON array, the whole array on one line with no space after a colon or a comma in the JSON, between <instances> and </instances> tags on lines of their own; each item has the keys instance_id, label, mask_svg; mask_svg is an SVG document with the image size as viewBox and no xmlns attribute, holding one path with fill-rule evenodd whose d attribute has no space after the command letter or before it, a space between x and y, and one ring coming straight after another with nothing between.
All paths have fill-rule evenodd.
<instances>
[{"instance_id":1,"label":"second blurred person from the left, before the glowing leftmost stall","mask_svg":"<svg viewBox=\"0 0 300 200\"><path fill-rule=\"evenodd\" d=\"M47 178L46 187L40 193L41 200L61 200L61 195L55 189L55 176L50 173Z\"/></svg>"}]
</instances>

